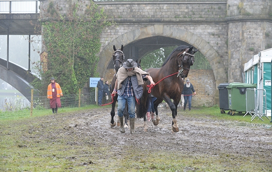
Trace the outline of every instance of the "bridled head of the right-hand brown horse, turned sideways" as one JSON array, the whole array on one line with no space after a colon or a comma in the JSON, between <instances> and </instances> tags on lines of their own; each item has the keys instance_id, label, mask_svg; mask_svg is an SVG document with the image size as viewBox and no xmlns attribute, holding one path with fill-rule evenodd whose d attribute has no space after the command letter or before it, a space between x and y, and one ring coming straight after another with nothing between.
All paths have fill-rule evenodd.
<instances>
[{"instance_id":1,"label":"bridled head of the right-hand brown horse, turned sideways","mask_svg":"<svg viewBox=\"0 0 272 172\"><path fill-rule=\"evenodd\" d=\"M178 76L186 78L188 76L191 65L194 63L194 54L198 49L194 50L193 47L188 47L185 51L177 55L177 63L179 67Z\"/></svg>"}]
</instances>

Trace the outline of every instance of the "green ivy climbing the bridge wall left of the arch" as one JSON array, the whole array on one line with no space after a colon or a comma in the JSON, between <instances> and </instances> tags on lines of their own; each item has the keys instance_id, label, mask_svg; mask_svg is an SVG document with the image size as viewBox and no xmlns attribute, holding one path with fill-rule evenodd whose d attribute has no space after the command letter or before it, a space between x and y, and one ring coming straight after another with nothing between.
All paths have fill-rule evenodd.
<instances>
[{"instance_id":1,"label":"green ivy climbing the bridge wall left of the arch","mask_svg":"<svg viewBox=\"0 0 272 172\"><path fill-rule=\"evenodd\" d=\"M40 95L46 95L49 79L54 77L63 94L76 94L89 77L97 75L100 34L112 23L106 21L103 9L99 10L92 0L69 4L66 14L50 2L46 11L49 20L41 24L48 70L41 71L42 81L36 79L32 84L40 90Z\"/></svg>"}]
</instances>

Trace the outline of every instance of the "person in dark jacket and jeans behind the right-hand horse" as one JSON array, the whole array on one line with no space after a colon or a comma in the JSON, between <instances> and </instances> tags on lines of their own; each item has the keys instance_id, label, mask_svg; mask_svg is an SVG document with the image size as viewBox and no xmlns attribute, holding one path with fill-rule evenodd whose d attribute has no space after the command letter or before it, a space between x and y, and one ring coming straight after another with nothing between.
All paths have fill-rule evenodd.
<instances>
[{"instance_id":1,"label":"person in dark jacket and jeans behind the right-hand horse","mask_svg":"<svg viewBox=\"0 0 272 172\"><path fill-rule=\"evenodd\" d=\"M189 111L191 110L191 105L192 105L192 96L196 94L196 91L194 89L193 84L190 83L190 79L186 79L186 84L183 87L182 94L184 96L184 108L183 110L186 109L186 104L188 101L188 106L189 106Z\"/></svg>"}]
</instances>

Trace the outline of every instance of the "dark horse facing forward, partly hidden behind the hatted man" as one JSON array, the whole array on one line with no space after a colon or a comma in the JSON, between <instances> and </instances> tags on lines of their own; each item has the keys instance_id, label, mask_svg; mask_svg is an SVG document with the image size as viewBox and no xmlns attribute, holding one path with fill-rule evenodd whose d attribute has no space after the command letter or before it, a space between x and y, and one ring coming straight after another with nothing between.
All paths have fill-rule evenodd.
<instances>
[{"instance_id":1,"label":"dark horse facing forward, partly hidden behind the hatted man","mask_svg":"<svg viewBox=\"0 0 272 172\"><path fill-rule=\"evenodd\" d=\"M119 68L122 67L122 64L125 59L125 55L123 53L123 48L124 48L123 45L121 45L121 49L116 49L116 47L113 46L114 53L113 53L112 57L113 57L113 61L114 61L115 74L114 74L112 81L111 81L110 93L112 93L113 89L114 89L114 85L115 85L115 81L116 81L116 73L118 72ZM137 63L137 67L141 68L141 64L140 64L141 60L140 61L136 60L136 63ZM113 102L111 104L110 125L112 127L116 125L116 122L114 121L114 116L115 116L115 106L116 106L117 98L118 98L118 94L116 94L116 96L113 96ZM123 114L124 114L124 118L125 118L125 125L127 125L127 120L129 118L128 111L127 111L127 104L126 104L126 108L124 109ZM118 121L118 123L119 123L119 121Z\"/></svg>"}]
</instances>

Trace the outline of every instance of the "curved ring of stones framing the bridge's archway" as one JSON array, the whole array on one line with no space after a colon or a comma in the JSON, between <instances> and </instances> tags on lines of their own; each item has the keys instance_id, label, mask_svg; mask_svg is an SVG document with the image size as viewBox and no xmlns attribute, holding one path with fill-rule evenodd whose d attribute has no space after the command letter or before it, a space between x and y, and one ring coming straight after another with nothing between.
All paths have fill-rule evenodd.
<instances>
[{"instance_id":1,"label":"curved ring of stones framing the bridge's archway","mask_svg":"<svg viewBox=\"0 0 272 172\"><path fill-rule=\"evenodd\" d=\"M131 42L153 36L165 36L175 38L187 42L195 48L200 48L200 52L204 54L213 69L213 73L216 79L216 86L218 86L222 82L228 81L227 71L225 69L224 63L221 60L219 54L210 44L208 44L202 37L190 31L185 31L177 27L170 27L165 25L153 25L139 28L133 31L126 32L111 41L99 53L99 57L103 58L100 58L99 60L97 71L102 74L102 76L105 74L105 69L107 68L112 58L113 45L117 47L121 45L128 45Z\"/></svg>"}]
</instances>

